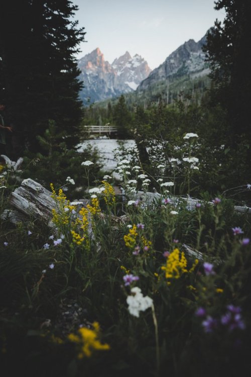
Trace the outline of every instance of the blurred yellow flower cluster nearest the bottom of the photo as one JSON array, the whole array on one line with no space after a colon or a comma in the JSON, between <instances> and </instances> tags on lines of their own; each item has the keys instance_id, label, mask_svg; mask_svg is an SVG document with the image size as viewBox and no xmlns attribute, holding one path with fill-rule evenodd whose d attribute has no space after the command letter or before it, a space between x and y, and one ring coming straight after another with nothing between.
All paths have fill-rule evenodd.
<instances>
[{"instance_id":1,"label":"blurred yellow flower cluster nearest the bottom of the photo","mask_svg":"<svg viewBox=\"0 0 251 377\"><path fill-rule=\"evenodd\" d=\"M83 357L90 357L94 350L108 350L110 346L105 343L101 344L99 341L99 324L94 322L92 324L93 330L82 327L78 330L78 334L69 334L68 339L78 345L79 359Z\"/></svg>"}]
</instances>

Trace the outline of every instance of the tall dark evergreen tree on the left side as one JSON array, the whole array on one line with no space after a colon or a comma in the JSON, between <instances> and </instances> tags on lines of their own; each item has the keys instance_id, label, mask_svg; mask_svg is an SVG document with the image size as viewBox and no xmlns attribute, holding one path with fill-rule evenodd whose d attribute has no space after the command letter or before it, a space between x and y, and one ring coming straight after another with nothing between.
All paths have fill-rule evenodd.
<instances>
[{"instance_id":1,"label":"tall dark evergreen tree on the left side","mask_svg":"<svg viewBox=\"0 0 251 377\"><path fill-rule=\"evenodd\" d=\"M82 111L74 53L84 39L68 0L4 2L0 13L1 85L14 118L14 137L30 150L39 149L48 120L64 133L68 147L78 142ZM3 83L2 83L3 82Z\"/></svg>"}]
</instances>

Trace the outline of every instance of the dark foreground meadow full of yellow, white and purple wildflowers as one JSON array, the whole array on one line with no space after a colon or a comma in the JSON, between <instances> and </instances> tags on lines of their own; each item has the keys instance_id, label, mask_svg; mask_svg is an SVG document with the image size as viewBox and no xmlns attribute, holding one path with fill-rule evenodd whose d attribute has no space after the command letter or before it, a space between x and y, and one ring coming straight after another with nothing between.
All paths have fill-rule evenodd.
<instances>
[{"instance_id":1,"label":"dark foreground meadow full of yellow, white and purple wildflowers","mask_svg":"<svg viewBox=\"0 0 251 377\"><path fill-rule=\"evenodd\" d=\"M200 191L198 140L151 172L118 154L120 181L84 160L86 202L65 176L50 223L2 218L3 377L249 375L251 185ZM2 212L27 171L2 168Z\"/></svg>"}]
</instances>

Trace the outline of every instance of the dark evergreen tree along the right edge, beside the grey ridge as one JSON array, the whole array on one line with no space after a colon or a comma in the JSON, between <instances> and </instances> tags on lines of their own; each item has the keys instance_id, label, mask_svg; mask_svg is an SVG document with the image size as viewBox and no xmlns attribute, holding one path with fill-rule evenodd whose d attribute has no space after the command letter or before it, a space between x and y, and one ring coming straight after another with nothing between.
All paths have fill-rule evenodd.
<instances>
[{"instance_id":1,"label":"dark evergreen tree along the right edge, beside the grey ridge","mask_svg":"<svg viewBox=\"0 0 251 377\"><path fill-rule=\"evenodd\" d=\"M251 2L218 0L215 9L225 9L226 17L223 24L216 20L204 48L216 83L213 96L227 110L232 144L242 135L251 149Z\"/></svg>"}]
</instances>

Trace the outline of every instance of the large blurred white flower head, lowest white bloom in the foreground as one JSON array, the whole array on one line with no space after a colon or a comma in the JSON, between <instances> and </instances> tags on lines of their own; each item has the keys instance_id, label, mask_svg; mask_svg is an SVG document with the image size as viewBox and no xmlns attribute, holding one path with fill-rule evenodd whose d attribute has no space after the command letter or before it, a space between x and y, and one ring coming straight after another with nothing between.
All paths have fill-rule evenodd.
<instances>
[{"instance_id":1,"label":"large blurred white flower head, lowest white bloom in the foreground","mask_svg":"<svg viewBox=\"0 0 251 377\"><path fill-rule=\"evenodd\" d=\"M132 316L140 316L140 311L145 312L153 305L153 300L148 296L143 296L141 289L134 287L131 289L132 295L127 297L128 310Z\"/></svg>"}]
</instances>

